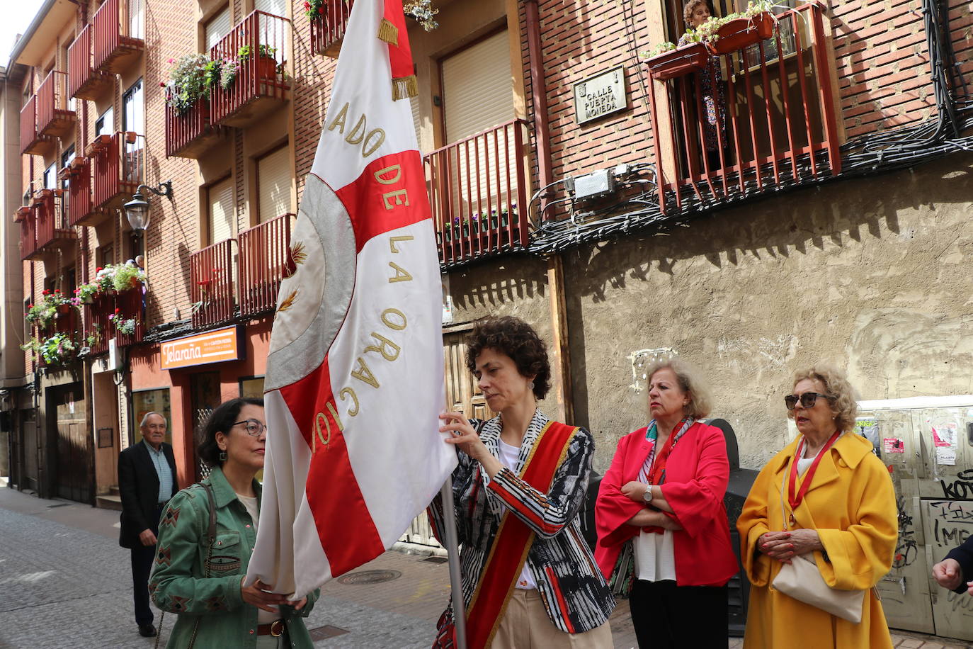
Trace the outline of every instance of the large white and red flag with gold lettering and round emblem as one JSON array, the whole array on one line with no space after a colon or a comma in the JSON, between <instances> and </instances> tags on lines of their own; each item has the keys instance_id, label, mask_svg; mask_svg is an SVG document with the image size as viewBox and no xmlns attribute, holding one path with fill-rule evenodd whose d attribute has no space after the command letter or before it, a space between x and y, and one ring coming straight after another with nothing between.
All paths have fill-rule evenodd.
<instances>
[{"instance_id":1,"label":"large white and red flag with gold lettering and round emblem","mask_svg":"<svg viewBox=\"0 0 973 649\"><path fill-rule=\"evenodd\" d=\"M295 598L395 543L456 461L439 433L442 288L412 71L402 0L356 0L265 379L264 496L247 583Z\"/></svg>"}]
</instances>

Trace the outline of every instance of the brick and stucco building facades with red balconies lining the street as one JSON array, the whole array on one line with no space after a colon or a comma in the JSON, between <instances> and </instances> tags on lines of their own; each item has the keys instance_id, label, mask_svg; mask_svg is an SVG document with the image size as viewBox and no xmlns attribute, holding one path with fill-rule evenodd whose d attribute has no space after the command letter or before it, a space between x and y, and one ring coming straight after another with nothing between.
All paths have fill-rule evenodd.
<instances>
[{"instance_id":1,"label":"brick and stucco building facades with red balconies lining the street","mask_svg":"<svg viewBox=\"0 0 973 649\"><path fill-rule=\"evenodd\" d=\"M5 150L17 150L4 158L0 233L5 254L21 239L23 260L5 257L22 276L4 317L13 478L85 501L111 495L115 458L137 440L141 413L169 416L185 484L197 473L200 417L261 392L274 281L347 12L327 4L325 18L310 20L298 0L113 2L47 2L18 43L0 104ZM725 16L739 3L717 0L713 10ZM555 389L542 408L593 431L601 471L618 438L642 425L639 368L660 354L706 369L714 415L737 428L741 461L754 468L783 446L778 397L813 362L846 367L864 399L973 393L968 5L777 7L770 40L714 59L726 98L721 124L707 131L703 74L653 79L638 55L678 40L678 0L434 4L436 29L410 23L413 112L442 251L454 405L486 409L461 352L463 332L487 313L521 315L552 344ZM119 18L102 22L125 37L112 43L127 44L117 67L95 59L110 45L112 29L95 27L106 7ZM70 50L86 25L92 50L79 81ZM257 67L261 45L274 50L271 71ZM173 61L241 58L243 46L250 58L231 90L214 88L182 114L166 103ZM90 88L75 95L85 98L65 118L73 126L26 142L40 126L12 127L11 111L40 96L50 69ZM138 80L144 126L132 112ZM579 112L585 97L608 95L618 103L592 119ZM99 126L109 107L112 125ZM720 142L710 150L713 131ZM65 172L54 189L91 194L84 174L97 185L97 142L123 152L124 192L25 252L40 242L30 224L49 204L40 196L48 170L70 167L73 146L87 171ZM136 149L142 162L126 158ZM171 198L150 196L149 227L133 236L122 204L138 183L169 180ZM112 335L96 313L108 303L98 303L69 329L87 337L102 322L100 341L78 345L85 353L43 370L37 354L20 355L16 343L64 328L54 320L50 331L11 335L24 306L44 290L70 294L143 249L144 291L111 296L138 319L133 336ZM230 360L165 360L221 330ZM940 364L948 371L929 369ZM83 469L58 468L68 465Z\"/></svg>"}]
</instances>

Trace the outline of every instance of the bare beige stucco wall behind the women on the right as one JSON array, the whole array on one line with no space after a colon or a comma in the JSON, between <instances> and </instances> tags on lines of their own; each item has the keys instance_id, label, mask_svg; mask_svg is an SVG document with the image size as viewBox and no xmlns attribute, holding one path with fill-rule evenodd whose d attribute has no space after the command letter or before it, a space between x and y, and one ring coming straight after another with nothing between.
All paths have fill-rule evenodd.
<instances>
[{"instance_id":1,"label":"bare beige stucco wall behind the women on the right","mask_svg":"<svg viewBox=\"0 0 973 649\"><path fill-rule=\"evenodd\" d=\"M847 368L864 399L973 392L971 176L973 156L955 155L566 253L575 412L595 468L645 422L639 349L703 367L744 467L783 446L782 396L818 361Z\"/></svg>"}]
</instances>

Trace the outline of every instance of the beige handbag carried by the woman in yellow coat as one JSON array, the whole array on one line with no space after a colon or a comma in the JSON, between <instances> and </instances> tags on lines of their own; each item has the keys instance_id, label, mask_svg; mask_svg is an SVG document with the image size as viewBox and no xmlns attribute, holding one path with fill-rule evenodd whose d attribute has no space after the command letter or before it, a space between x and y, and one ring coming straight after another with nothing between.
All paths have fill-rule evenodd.
<instances>
[{"instance_id":1,"label":"beige handbag carried by the woman in yellow coat","mask_svg":"<svg viewBox=\"0 0 973 649\"><path fill-rule=\"evenodd\" d=\"M784 480L786 481L786 476ZM783 485L780 486L780 514L784 529L787 529ZM813 554L795 555L790 563L781 563L773 586L784 595L811 604L848 622L861 622L865 591L841 591L828 586L821 571L817 569Z\"/></svg>"}]
</instances>

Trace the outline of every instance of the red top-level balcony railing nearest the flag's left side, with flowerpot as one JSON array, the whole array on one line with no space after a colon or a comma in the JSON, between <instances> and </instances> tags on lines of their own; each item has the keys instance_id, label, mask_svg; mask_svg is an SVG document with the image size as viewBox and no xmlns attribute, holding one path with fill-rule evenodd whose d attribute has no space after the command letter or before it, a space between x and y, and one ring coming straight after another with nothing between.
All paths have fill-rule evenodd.
<instances>
[{"instance_id":1,"label":"red top-level balcony railing nearest the flag's left side, with flowerpot","mask_svg":"<svg viewBox=\"0 0 973 649\"><path fill-rule=\"evenodd\" d=\"M288 98L289 82L282 69L287 58L287 30L290 20L253 12L243 18L223 40L213 46L210 57L235 58L239 71L228 90L213 88L210 119L223 126L249 126Z\"/></svg>"}]
</instances>

